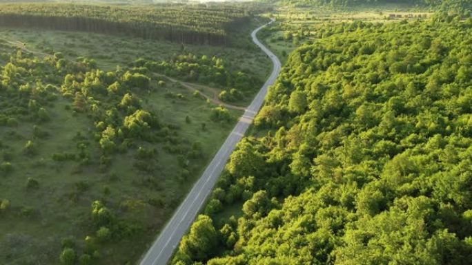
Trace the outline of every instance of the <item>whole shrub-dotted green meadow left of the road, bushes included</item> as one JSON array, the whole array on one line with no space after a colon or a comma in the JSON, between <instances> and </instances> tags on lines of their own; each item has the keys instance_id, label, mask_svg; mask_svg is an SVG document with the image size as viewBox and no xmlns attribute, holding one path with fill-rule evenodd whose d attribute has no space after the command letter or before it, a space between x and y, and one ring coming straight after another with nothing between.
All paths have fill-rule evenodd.
<instances>
[{"instance_id":1,"label":"whole shrub-dotted green meadow left of the road, bushes included","mask_svg":"<svg viewBox=\"0 0 472 265\"><path fill-rule=\"evenodd\" d=\"M266 78L263 21L235 45L1 27L0 263L134 264Z\"/></svg>"}]
</instances>

